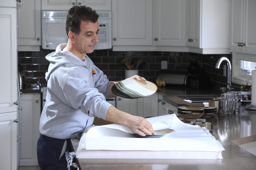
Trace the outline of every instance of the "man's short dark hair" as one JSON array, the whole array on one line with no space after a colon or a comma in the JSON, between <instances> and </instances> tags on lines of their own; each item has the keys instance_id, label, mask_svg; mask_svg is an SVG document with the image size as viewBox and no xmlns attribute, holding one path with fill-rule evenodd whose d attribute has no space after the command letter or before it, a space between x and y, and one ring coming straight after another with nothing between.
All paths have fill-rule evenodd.
<instances>
[{"instance_id":1,"label":"man's short dark hair","mask_svg":"<svg viewBox=\"0 0 256 170\"><path fill-rule=\"evenodd\" d=\"M95 23L98 21L99 15L92 8L85 5L76 5L68 10L67 21L66 21L66 32L68 35L69 31L75 34L80 33L81 21L88 21Z\"/></svg>"}]
</instances>

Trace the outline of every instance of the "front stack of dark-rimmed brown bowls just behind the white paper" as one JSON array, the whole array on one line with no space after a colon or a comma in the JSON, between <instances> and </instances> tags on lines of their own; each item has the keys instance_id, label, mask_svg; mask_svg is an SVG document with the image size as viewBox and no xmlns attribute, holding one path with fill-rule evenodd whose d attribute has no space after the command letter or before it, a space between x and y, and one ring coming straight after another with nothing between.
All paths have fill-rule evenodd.
<instances>
[{"instance_id":1,"label":"front stack of dark-rimmed brown bowls just behind the white paper","mask_svg":"<svg viewBox=\"0 0 256 170\"><path fill-rule=\"evenodd\" d=\"M178 106L178 115L185 120L196 120L204 115L204 109L198 107Z\"/></svg>"}]
</instances>

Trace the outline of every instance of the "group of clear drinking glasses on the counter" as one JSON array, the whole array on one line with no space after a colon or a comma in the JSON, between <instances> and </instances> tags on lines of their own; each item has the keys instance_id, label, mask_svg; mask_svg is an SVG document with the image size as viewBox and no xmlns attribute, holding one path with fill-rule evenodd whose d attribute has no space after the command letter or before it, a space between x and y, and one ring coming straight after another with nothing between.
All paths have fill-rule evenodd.
<instances>
[{"instance_id":1,"label":"group of clear drinking glasses on the counter","mask_svg":"<svg viewBox=\"0 0 256 170\"><path fill-rule=\"evenodd\" d=\"M221 94L222 115L239 114L241 91L230 91Z\"/></svg>"}]
</instances>

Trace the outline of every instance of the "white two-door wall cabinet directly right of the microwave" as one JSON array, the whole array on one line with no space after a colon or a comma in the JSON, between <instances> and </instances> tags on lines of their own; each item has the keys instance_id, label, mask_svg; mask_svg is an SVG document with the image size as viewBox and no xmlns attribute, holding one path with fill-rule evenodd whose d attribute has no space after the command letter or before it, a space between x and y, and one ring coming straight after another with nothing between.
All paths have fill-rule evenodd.
<instances>
[{"instance_id":1,"label":"white two-door wall cabinet directly right of the microwave","mask_svg":"<svg viewBox=\"0 0 256 170\"><path fill-rule=\"evenodd\" d=\"M186 46L186 0L112 0L112 26L115 49Z\"/></svg>"}]
</instances>

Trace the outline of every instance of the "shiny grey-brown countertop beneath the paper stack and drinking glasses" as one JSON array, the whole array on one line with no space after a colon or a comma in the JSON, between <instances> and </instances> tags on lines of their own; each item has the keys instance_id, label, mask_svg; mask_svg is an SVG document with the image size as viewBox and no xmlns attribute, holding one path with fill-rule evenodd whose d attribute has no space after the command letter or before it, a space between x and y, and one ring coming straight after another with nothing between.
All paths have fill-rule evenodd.
<instances>
[{"instance_id":1,"label":"shiny grey-brown countertop beneath the paper stack and drinking glasses","mask_svg":"<svg viewBox=\"0 0 256 170\"><path fill-rule=\"evenodd\" d=\"M255 169L256 156L238 146L256 140L256 111L244 110L245 107L246 104L242 104L239 115L222 116L218 114L206 118L213 122L211 134L225 148L222 154L223 159L78 159L79 169ZM76 150L78 142L79 140L72 140L74 150Z\"/></svg>"}]
</instances>

